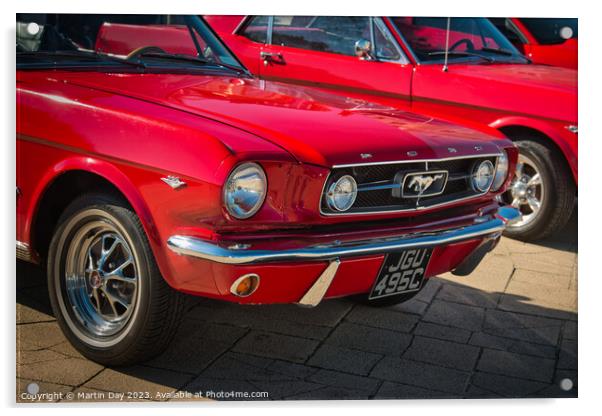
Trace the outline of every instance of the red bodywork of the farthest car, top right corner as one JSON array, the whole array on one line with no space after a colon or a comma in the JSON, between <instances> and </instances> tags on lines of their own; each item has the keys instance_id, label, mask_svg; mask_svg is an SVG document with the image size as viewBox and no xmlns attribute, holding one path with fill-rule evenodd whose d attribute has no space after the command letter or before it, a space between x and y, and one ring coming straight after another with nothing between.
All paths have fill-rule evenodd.
<instances>
[{"instance_id":1,"label":"red bodywork of the farthest car, top right corner","mask_svg":"<svg viewBox=\"0 0 602 416\"><path fill-rule=\"evenodd\" d=\"M513 17L510 20L527 40L527 43L515 46L533 63L577 69L579 41L576 38L553 45L543 45L529 32L520 18Z\"/></svg>"}]
</instances>

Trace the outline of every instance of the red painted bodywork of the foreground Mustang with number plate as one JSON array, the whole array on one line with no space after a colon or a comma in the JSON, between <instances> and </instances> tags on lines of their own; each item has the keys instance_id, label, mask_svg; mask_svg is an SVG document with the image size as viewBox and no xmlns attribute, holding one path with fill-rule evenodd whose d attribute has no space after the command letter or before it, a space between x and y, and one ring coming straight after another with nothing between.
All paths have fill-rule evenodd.
<instances>
[{"instance_id":1,"label":"red painted bodywork of the foreground Mustang with number plate","mask_svg":"<svg viewBox=\"0 0 602 416\"><path fill-rule=\"evenodd\" d=\"M255 239L258 247L284 248L457 226L494 209L494 194L420 213L362 216L365 224L377 224L370 226L353 216L322 216L318 208L330 168L361 162L361 152L372 153L374 162L408 160L408 149L422 159L440 158L449 156L449 146L455 156L475 154L477 144L483 153L506 148L516 161L507 139L314 88L215 74L19 71L17 239L35 249L44 192L66 172L91 172L129 201L175 289L247 303L296 302L324 263L221 265L178 256L166 241L175 234L216 242L235 235ZM258 213L241 221L222 207L222 187L245 160L262 165L269 187ZM161 178L168 175L186 187L166 186ZM346 231L330 228L351 222ZM429 275L455 267L476 243L437 248ZM343 261L327 296L368 290L382 258ZM234 298L228 288L251 269L261 275L261 288Z\"/></svg>"}]
</instances>

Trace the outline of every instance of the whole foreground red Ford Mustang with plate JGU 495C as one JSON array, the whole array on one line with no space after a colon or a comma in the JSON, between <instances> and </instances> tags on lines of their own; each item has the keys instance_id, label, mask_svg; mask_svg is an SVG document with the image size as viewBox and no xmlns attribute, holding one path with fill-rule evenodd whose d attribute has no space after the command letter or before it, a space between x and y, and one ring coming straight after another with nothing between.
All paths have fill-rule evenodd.
<instances>
[{"instance_id":1,"label":"whole foreground red Ford Mustang with plate JGU 495C","mask_svg":"<svg viewBox=\"0 0 602 416\"><path fill-rule=\"evenodd\" d=\"M106 364L171 339L178 292L404 301L520 213L504 137L253 78L196 16L17 16L17 257Z\"/></svg>"}]
</instances>

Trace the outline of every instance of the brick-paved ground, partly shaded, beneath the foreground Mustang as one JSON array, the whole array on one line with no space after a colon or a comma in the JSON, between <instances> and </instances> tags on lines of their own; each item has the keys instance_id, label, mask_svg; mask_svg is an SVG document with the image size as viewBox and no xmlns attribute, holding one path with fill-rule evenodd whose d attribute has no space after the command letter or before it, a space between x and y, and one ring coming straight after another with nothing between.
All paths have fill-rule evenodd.
<instances>
[{"instance_id":1,"label":"brick-paved ground, partly shaded, beneath the foreground Mustang","mask_svg":"<svg viewBox=\"0 0 602 416\"><path fill-rule=\"evenodd\" d=\"M563 379L574 383L568 392ZM433 278L396 307L194 300L163 355L118 369L67 343L43 274L18 263L17 400L32 382L40 392L89 393L88 400L209 390L270 399L575 397L576 215L539 245L503 239L472 275Z\"/></svg>"}]
</instances>

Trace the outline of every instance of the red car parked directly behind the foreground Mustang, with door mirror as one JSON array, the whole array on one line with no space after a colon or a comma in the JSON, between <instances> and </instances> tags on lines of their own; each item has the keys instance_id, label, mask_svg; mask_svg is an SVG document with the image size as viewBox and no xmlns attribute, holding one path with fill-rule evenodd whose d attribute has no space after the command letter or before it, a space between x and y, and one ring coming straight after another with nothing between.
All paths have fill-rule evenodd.
<instances>
[{"instance_id":1,"label":"red car parked directly behind the foreground Mustang, with door mirror","mask_svg":"<svg viewBox=\"0 0 602 416\"><path fill-rule=\"evenodd\" d=\"M561 229L577 189L577 71L534 65L486 18L207 16L266 80L494 128L520 149L506 233Z\"/></svg>"}]
</instances>

